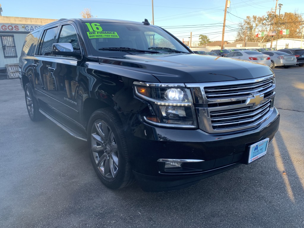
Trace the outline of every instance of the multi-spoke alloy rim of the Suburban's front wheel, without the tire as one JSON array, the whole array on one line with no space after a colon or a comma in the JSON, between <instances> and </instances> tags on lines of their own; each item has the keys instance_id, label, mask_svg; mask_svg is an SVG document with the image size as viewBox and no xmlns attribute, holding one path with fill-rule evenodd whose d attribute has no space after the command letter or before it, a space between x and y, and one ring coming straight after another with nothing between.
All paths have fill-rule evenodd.
<instances>
[{"instance_id":1,"label":"multi-spoke alloy rim of the Suburban's front wheel, without the tire","mask_svg":"<svg viewBox=\"0 0 304 228\"><path fill-rule=\"evenodd\" d=\"M95 164L107 179L114 179L118 173L118 147L109 125L97 120L91 130L91 149Z\"/></svg>"}]
</instances>

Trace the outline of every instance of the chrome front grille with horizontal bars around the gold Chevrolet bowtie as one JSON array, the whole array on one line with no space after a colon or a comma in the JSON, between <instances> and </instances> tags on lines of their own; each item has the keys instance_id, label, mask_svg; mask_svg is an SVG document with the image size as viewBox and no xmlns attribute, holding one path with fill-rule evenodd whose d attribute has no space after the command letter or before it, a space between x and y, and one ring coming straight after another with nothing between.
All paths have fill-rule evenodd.
<instances>
[{"instance_id":1,"label":"chrome front grille with horizontal bars around the gold Chevrolet bowtie","mask_svg":"<svg viewBox=\"0 0 304 228\"><path fill-rule=\"evenodd\" d=\"M268 119L274 109L274 75L249 80L186 84L186 87L192 88L199 128L207 133L258 126ZM262 95L260 104L253 101Z\"/></svg>"}]
</instances>

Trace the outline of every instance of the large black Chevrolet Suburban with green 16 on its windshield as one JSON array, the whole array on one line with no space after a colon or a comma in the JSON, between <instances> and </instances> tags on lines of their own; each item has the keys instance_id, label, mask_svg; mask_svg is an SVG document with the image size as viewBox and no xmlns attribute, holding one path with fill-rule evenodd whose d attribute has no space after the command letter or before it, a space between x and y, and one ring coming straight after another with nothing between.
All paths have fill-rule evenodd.
<instances>
[{"instance_id":1,"label":"large black Chevrolet Suburban with green 16 on its windshield","mask_svg":"<svg viewBox=\"0 0 304 228\"><path fill-rule=\"evenodd\" d=\"M88 141L109 188L193 185L266 154L279 126L268 66L193 54L147 20L60 19L19 67L30 119Z\"/></svg>"}]
</instances>

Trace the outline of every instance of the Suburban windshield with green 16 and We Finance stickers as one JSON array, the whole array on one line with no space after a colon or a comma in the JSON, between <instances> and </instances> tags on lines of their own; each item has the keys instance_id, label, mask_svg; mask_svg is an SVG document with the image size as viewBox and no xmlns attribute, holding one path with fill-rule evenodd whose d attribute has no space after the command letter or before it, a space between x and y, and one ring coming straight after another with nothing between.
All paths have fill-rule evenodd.
<instances>
[{"instance_id":1,"label":"Suburban windshield with green 16 and We Finance stickers","mask_svg":"<svg viewBox=\"0 0 304 228\"><path fill-rule=\"evenodd\" d=\"M92 54L95 56L122 56L126 52L128 54L189 53L181 43L158 27L113 22L89 22L83 23L83 26ZM139 51L136 52L136 49ZM147 50L147 53L144 50ZM155 51L151 52L151 50Z\"/></svg>"}]
</instances>

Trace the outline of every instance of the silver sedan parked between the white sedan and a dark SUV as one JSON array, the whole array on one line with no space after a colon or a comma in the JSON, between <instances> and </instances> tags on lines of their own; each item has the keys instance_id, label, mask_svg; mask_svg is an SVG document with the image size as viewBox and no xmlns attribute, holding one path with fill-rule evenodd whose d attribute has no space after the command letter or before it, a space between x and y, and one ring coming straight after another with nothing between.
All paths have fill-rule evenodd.
<instances>
[{"instance_id":1,"label":"silver sedan parked between the white sedan and a dark SUV","mask_svg":"<svg viewBox=\"0 0 304 228\"><path fill-rule=\"evenodd\" d=\"M282 51L263 51L262 53L270 56L271 68L281 66L289 68L297 63L297 58L294 55L290 55Z\"/></svg>"}]
</instances>

